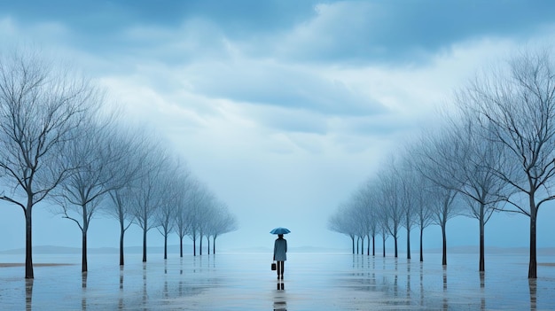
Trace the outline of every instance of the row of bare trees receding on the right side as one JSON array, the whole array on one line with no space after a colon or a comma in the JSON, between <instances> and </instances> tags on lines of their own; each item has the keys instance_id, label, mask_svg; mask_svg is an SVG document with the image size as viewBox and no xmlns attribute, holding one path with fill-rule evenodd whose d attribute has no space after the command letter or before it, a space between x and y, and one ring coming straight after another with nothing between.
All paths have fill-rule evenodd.
<instances>
[{"instance_id":1,"label":"row of bare trees receding on the right side","mask_svg":"<svg viewBox=\"0 0 555 311\"><path fill-rule=\"evenodd\" d=\"M328 228L346 234L375 255L381 237L419 229L442 229L447 265L448 221L472 217L480 229L480 271L485 271L485 226L496 214L529 218L528 278L536 278L538 211L555 198L555 62L552 51L528 50L482 70L455 91L441 124L422 128L389 157L329 218ZM524 232L523 232L524 233ZM370 246L371 245L371 246Z\"/></svg>"}]
</instances>

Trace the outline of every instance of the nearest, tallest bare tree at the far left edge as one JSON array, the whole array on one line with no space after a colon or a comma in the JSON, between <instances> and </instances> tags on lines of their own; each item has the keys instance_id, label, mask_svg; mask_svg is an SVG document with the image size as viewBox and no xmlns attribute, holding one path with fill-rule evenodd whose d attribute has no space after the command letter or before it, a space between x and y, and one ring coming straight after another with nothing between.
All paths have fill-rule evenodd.
<instances>
[{"instance_id":1,"label":"nearest, tallest bare tree at the far left edge","mask_svg":"<svg viewBox=\"0 0 555 311\"><path fill-rule=\"evenodd\" d=\"M26 278L34 278L33 207L73 170L62 151L77 138L82 120L96 113L97 95L90 82L35 53L0 58L0 175L10 188L0 199L25 215Z\"/></svg>"}]
</instances>

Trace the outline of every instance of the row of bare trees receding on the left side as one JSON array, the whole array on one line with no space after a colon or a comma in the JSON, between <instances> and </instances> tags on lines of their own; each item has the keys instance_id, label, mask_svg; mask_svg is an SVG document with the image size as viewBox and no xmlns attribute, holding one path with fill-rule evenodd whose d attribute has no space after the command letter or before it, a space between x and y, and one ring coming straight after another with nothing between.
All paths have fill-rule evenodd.
<instances>
[{"instance_id":1,"label":"row of bare trees receding on the left side","mask_svg":"<svg viewBox=\"0 0 555 311\"><path fill-rule=\"evenodd\" d=\"M87 232L94 216L120 226L120 264L129 226L164 237L216 238L237 229L235 216L192 175L163 139L121 121L102 89L36 51L0 55L0 199L19 206L26 223L25 277L33 278L32 211L42 202L82 233L87 271Z\"/></svg>"}]
</instances>

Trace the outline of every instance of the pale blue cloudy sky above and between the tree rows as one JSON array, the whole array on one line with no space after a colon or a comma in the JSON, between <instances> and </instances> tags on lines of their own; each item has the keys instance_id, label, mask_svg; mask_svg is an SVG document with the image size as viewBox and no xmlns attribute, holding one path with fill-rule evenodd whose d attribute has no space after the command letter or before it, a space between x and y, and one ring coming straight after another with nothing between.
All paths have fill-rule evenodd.
<instances>
[{"instance_id":1,"label":"pale blue cloudy sky above and between the tree rows","mask_svg":"<svg viewBox=\"0 0 555 311\"><path fill-rule=\"evenodd\" d=\"M238 217L222 248L271 246L277 226L291 246L342 248L349 238L326 229L337 206L477 70L555 43L552 12L548 0L0 0L0 51L64 59L167 137ZM79 247L75 224L46 210L34 244ZM540 210L539 246L555 246L553 210ZM90 247L118 245L115 221L90 226ZM23 247L24 232L19 207L0 203L0 250ZM526 217L499 214L486 239L526 246L527 232ZM449 245L478 245L477 233L476 220L448 223ZM441 247L438 228L425 238Z\"/></svg>"}]
</instances>

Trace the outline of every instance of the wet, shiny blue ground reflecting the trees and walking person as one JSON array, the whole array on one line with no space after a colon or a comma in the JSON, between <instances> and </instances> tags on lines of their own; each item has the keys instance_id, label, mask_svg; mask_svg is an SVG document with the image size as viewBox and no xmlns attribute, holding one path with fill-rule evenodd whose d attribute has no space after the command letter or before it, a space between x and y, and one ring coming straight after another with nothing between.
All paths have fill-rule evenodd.
<instances>
[{"instance_id":1,"label":"wet, shiny blue ground reflecting the trees and walking person","mask_svg":"<svg viewBox=\"0 0 555 311\"><path fill-rule=\"evenodd\" d=\"M153 255L151 258L154 257ZM440 255L424 263L391 257L291 253L285 280L270 271L270 254L217 254L183 259L129 257L125 267L111 255L80 265L0 268L2 310L545 310L555 309L555 267L538 267L528 281L526 256L487 258ZM40 257L35 261L40 262ZM78 256L43 260L78 263ZM542 259L540 259L542 260ZM546 258L543 262L552 261ZM8 262L4 257L0 261Z\"/></svg>"}]
</instances>

